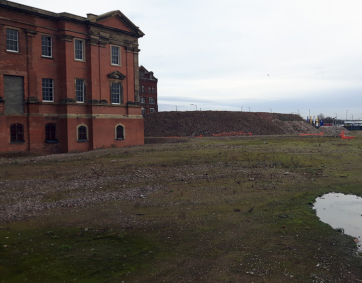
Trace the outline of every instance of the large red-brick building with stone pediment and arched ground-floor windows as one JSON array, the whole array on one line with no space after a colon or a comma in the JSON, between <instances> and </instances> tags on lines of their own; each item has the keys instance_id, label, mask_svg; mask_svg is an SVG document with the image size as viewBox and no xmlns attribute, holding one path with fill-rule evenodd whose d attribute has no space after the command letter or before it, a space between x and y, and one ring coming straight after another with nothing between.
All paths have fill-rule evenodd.
<instances>
[{"instance_id":1,"label":"large red-brick building with stone pediment and arched ground-floor windows","mask_svg":"<svg viewBox=\"0 0 362 283\"><path fill-rule=\"evenodd\" d=\"M0 0L0 152L143 144L143 35L120 11L85 18Z\"/></svg>"}]
</instances>

